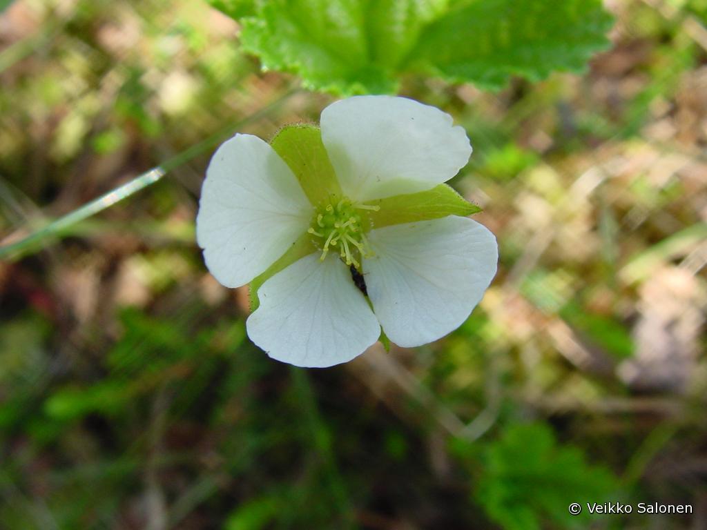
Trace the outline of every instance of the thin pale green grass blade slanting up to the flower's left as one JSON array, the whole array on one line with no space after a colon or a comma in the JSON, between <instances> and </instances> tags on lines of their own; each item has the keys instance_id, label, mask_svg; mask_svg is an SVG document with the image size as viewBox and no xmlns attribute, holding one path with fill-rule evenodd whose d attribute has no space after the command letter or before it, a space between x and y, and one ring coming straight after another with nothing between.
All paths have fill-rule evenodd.
<instances>
[{"instance_id":1,"label":"thin pale green grass blade slanting up to the flower's left","mask_svg":"<svg viewBox=\"0 0 707 530\"><path fill-rule=\"evenodd\" d=\"M141 175L138 175L131 181L122 184L122 186L119 186L113 189L112 191L107 192L106 194L98 197L98 199L94 199L88 204L84 204L83 206L76 208L76 210L67 213L65 216L62 216L58 219L51 221L50 223L47 223L46 225L31 232L29 235L23 237L23 239L17 242L1 246L0 259L18 259L24 256L25 254L37 252L39 249L42 248L42 245L40 245L40 243L42 243L48 237L61 235L62 232L65 232L66 228L71 227L71 225L75 225L79 221L89 218L90 216L94 216L96 213L99 213L100 211L103 211L106 208L113 206L118 201L122 201L122 199L126 199L127 197L139 192L141 189L144 189L148 186L151 186L155 182L158 182L162 177L167 175L168 172L174 170L176 167L180 167L180 165L187 163L189 160L192 160L192 158L196 158L197 156L205 153L206 151L209 151L211 148L213 148L213 146L215 146L217 143L221 143L221 141L231 136L235 131L240 129L245 124L255 122L257 119L268 114L296 92L298 92L297 88L289 90L288 92L284 93L284 95L282 95L280 98L274 100L274 102L271 102L269 105L267 105L267 107L263 107L261 110L255 112L254 114L251 114L245 119L240 120L240 122L231 124L225 129L216 132L216 134L209 136L209 138L194 144L194 146L185 149L185 151L178 153L172 158L166 160L164 163L153 167L151 170L148 170L142 173Z\"/></svg>"}]
</instances>

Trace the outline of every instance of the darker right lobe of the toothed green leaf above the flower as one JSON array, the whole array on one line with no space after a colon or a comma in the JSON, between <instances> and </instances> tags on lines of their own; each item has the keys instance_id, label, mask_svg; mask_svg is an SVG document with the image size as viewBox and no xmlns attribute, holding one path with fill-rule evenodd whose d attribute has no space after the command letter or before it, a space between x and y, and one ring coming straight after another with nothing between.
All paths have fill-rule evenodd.
<instances>
[{"instance_id":1,"label":"darker right lobe of the toothed green leaf above the flower","mask_svg":"<svg viewBox=\"0 0 707 530\"><path fill-rule=\"evenodd\" d=\"M455 83L503 88L510 76L532 81L551 71L582 71L609 46L612 17L601 0L477 0L426 28L411 68Z\"/></svg>"}]
</instances>

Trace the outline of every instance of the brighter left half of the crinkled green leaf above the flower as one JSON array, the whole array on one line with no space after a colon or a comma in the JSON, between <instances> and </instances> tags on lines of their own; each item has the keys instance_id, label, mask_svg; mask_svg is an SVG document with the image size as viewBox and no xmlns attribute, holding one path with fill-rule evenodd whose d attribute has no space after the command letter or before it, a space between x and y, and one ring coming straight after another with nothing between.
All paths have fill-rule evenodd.
<instances>
[{"instance_id":1,"label":"brighter left half of the crinkled green leaf above the flower","mask_svg":"<svg viewBox=\"0 0 707 530\"><path fill-rule=\"evenodd\" d=\"M397 66L448 0L272 0L245 18L243 47L266 69L340 95L395 93Z\"/></svg>"}]
</instances>

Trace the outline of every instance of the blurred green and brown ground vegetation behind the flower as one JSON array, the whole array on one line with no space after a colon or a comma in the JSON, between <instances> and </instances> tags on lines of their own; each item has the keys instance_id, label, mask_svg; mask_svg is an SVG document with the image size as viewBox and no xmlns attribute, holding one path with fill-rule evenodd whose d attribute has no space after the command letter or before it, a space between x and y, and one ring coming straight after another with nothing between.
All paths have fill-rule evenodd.
<instances>
[{"instance_id":1,"label":"blurred green and brown ground vegetation behind the flower","mask_svg":"<svg viewBox=\"0 0 707 530\"><path fill-rule=\"evenodd\" d=\"M328 370L253 346L194 242L213 146L0 262L0 528L707 528L707 1L606 5L584 75L402 78L467 129L452 184L500 243L436 343ZM0 244L334 100L201 1L0 6ZM694 513L567 511L607 500Z\"/></svg>"}]
</instances>

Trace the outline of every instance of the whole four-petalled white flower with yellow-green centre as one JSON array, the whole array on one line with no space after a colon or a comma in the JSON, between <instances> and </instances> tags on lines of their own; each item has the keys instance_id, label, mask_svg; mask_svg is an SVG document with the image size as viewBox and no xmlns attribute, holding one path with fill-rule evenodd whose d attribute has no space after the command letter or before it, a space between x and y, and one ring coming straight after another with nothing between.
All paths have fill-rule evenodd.
<instances>
[{"instance_id":1,"label":"whole four-petalled white flower with yellow-green centre","mask_svg":"<svg viewBox=\"0 0 707 530\"><path fill-rule=\"evenodd\" d=\"M271 358L327 367L363 353L381 326L405 347L450 333L496 274L496 239L466 217L429 208L410 217L404 196L429 201L419 192L438 189L467 163L464 129L435 107L389 96L335 102L320 126L323 154L302 143L284 160L237 134L206 172L197 241L216 279L238 287L276 261L287 264L265 275L248 336ZM327 167L335 177L327 179ZM396 205L416 221L394 224L406 218L396 217ZM359 274L368 299L354 282Z\"/></svg>"}]
</instances>

